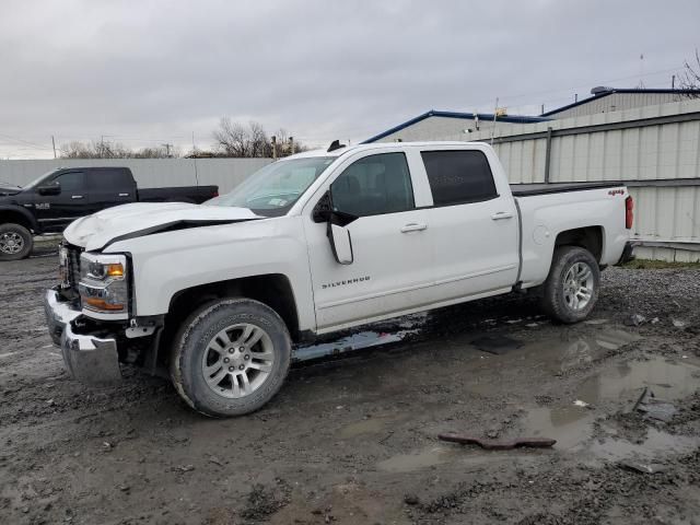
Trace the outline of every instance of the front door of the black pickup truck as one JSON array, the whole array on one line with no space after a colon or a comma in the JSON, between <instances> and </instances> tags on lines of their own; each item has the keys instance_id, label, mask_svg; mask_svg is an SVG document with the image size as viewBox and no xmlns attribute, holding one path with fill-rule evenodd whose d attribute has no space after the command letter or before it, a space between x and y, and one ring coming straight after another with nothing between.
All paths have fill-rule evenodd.
<instances>
[{"instance_id":1,"label":"front door of the black pickup truck","mask_svg":"<svg viewBox=\"0 0 700 525\"><path fill-rule=\"evenodd\" d=\"M84 215L88 200L85 173L69 170L57 173L42 186L59 185L57 195L42 195L35 189L36 219L46 232L60 232L75 219Z\"/></svg>"}]
</instances>

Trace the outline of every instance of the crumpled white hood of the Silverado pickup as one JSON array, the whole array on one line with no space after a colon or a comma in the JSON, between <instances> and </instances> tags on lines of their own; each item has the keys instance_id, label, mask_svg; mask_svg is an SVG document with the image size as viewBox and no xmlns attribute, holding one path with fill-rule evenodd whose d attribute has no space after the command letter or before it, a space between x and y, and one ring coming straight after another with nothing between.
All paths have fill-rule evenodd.
<instances>
[{"instance_id":1,"label":"crumpled white hood of the Silverado pickup","mask_svg":"<svg viewBox=\"0 0 700 525\"><path fill-rule=\"evenodd\" d=\"M116 206L72 222L63 232L70 244L86 250L101 249L112 241L159 233L178 228L207 226L264 219L246 208L188 205L184 202L136 202Z\"/></svg>"}]
</instances>

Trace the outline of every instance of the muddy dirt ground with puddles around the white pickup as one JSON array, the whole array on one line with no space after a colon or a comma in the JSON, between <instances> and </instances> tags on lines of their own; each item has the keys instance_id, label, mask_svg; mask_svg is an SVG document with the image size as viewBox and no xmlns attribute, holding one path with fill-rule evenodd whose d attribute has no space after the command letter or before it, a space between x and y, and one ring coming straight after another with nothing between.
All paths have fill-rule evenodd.
<instances>
[{"instance_id":1,"label":"muddy dirt ground with puddles around the white pickup","mask_svg":"<svg viewBox=\"0 0 700 525\"><path fill-rule=\"evenodd\" d=\"M576 326L518 295L370 327L350 340L402 340L213 420L135 371L70 380L45 255L0 267L0 523L700 524L698 269L608 269Z\"/></svg>"}]
</instances>

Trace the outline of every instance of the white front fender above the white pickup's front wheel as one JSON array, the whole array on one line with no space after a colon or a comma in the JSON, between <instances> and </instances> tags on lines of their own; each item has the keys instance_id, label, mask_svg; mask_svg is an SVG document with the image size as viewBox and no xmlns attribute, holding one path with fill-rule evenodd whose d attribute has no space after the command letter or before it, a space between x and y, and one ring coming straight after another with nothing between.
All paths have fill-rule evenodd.
<instances>
[{"instance_id":1,"label":"white front fender above the white pickup's front wheel","mask_svg":"<svg viewBox=\"0 0 700 525\"><path fill-rule=\"evenodd\" d=\"M129 253L136 315L163 315L180 291L261 275L287 277L300 329L315 327L308 255L299 218L192 228L109 245Z\"/></svg>"}]
</instances>

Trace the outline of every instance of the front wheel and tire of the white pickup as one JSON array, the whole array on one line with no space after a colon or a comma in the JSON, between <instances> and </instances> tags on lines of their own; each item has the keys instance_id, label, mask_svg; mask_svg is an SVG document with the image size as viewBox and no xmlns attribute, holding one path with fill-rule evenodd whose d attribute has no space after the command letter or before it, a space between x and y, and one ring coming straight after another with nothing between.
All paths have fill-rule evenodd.
<instances>
[{"instance_id":1,"label":"front wheel and tire of the white pickup","mask_svg":"<svg viewBox=\"0 0 700 525\"><path fill-rule=\"evenodd\" d=\"M249 299L208 303L174 339L171 378L182 398L211 417L253 412L280 389L292 342L280 316Z\"/></svg>"}]
</instances>

